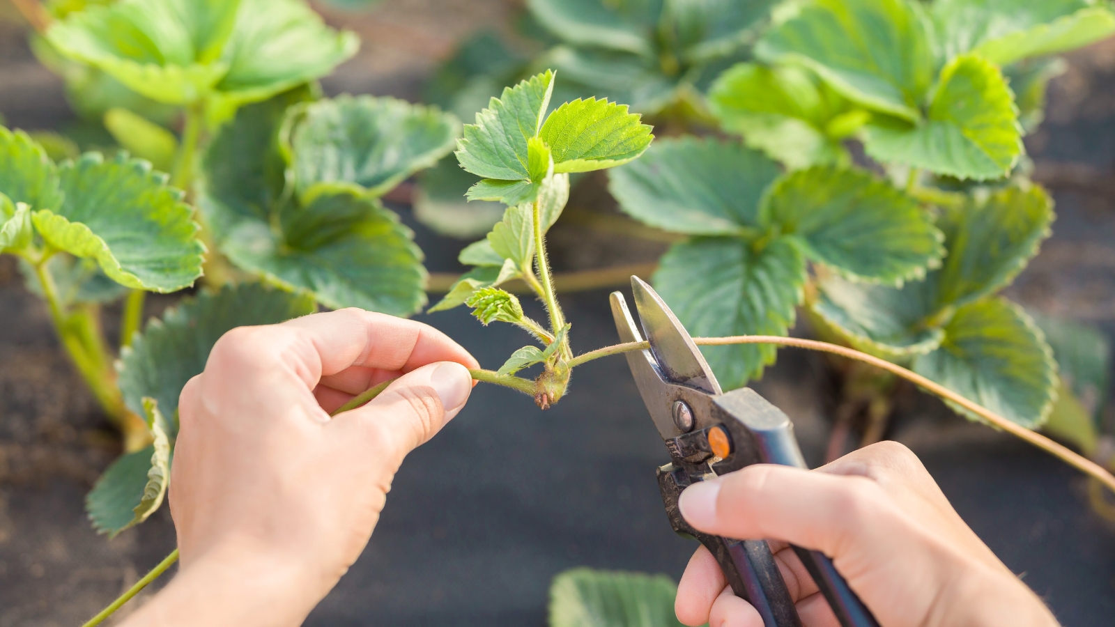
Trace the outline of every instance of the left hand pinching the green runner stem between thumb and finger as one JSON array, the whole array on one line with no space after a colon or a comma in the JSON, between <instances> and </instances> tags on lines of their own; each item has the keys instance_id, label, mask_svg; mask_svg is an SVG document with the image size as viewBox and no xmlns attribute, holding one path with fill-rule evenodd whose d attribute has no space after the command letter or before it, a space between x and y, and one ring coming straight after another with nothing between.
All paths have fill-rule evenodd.
<instances>
[{"instance_id":1,"label":"left hand pinching the green runner stem between thumb and finger","mask_svg":"<svg viewBox=\"0 0 1115 627\"><path fill-rule=\"evenodd\" d=\"M301 624L363 550L404 456L464 406L466 367L440 331L359 309L222 337L180 401L181 571L127 625Z\"/></svg>"}]
</instances>

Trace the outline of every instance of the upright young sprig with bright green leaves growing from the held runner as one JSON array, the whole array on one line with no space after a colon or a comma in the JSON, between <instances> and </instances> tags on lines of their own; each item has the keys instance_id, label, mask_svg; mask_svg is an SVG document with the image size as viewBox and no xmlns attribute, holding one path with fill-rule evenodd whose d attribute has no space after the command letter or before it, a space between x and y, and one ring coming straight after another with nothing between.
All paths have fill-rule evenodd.
<instances>
[{"instance_id":1,"label":"upright young sprig with bright green leaves growing from the held runner","mask_svg":"<svg viewBox=\"0 0 1115 627\"><path fill-rule=\"evenodd\" d=\"M564 394L572 358L569 329L556 301L545 261L544 237L569 201L569 174L622 165L638 158L653 139L651 128L626 105L575 99L550 115L554 73L545 71L492 98L465 126L457 145L460 167L482 176L469 200L507 205L487 237L466 247L462 263L473 269L462 277L430 311L460 305L474 308L485 325L500 320L516 325L544 346L527 346L498 370L513 376L536 364L540 405ZM497 289L513 280L524 282L546 307L549 328L526 317L514 296Z\"/></svg>"}]
</instances>

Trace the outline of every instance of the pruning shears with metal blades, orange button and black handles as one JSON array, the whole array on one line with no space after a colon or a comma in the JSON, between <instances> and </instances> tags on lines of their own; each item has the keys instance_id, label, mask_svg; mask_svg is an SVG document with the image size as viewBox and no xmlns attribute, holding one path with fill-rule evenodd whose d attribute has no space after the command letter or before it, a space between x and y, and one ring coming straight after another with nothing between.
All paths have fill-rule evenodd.
<instances>
[{"instance_id":1,"label":"pruning shears with metal blades, orange button and black handles","mask_svg":"<svg viewBox=\"0 0 1115 627\"><path fill-rule=\"evenodd\" d=\"M736 540L701 533L685 521L678 498L689 485L750 464L808 467L794 425L749 388L724 394L689 332L655 290L631 278L640 332L623 295L611 295L620 339L643 341L649 350L627 354L647 411L670 453L658 469L658 486L673 530L694 537L716 557L736 596L749 601L766 627L801 627L766 540ZM879 627L871 611L820 551L794 547L843 627Z\"/></svg>"}]
</instances>

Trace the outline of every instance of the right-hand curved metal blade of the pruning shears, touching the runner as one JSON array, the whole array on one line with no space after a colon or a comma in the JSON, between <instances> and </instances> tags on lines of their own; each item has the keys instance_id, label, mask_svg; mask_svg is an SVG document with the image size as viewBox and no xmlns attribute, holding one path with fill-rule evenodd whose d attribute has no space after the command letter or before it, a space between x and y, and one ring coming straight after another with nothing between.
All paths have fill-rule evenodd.
<instances>
[{"instance_id":1,"label":"right-hand curved metal blade of the pruning shears, touching the runner","mask_svg":"<svg viewBox=\"0 0 1115 627\"><path fill-rule=\"evenodd\" d=\"M655 288L639 277L631 277L634 308L639 312L643 335L661 373L671 382L708 394L720 394L720 384L705 356L689 337Z\"/></svg>"}]
</instances>

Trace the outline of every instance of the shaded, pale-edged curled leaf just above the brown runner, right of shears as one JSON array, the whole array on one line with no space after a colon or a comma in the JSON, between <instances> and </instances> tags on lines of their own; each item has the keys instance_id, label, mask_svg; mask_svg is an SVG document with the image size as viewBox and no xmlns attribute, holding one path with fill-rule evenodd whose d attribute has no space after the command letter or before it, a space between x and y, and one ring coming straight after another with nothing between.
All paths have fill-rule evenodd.
<instances>
[{"instance_id":1,"label":"shaded, pale-edged curled leaf just above the brown runner, right of shears","mask_svg":"<svg viewBox=\"0 0 1115 627\"><path fill-rule=\"evenodd\" d=\"M944 340L944 331L925 324L935 303L924 282L899 289L830 276L816 284L809 312L853 348L904 361L937 349Z\"/></svg>"}]
</instances>

